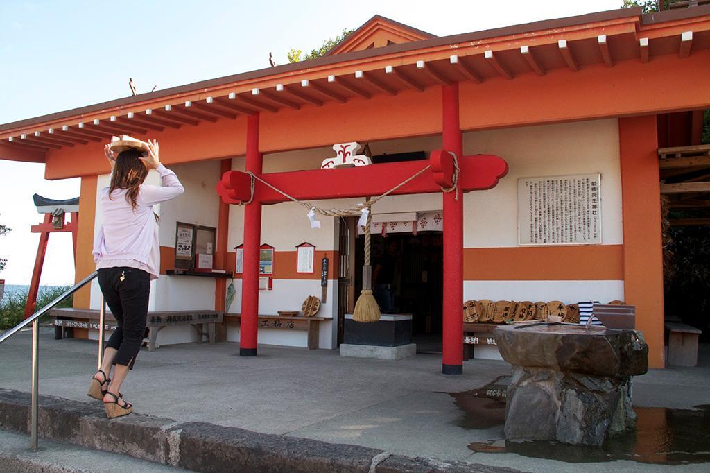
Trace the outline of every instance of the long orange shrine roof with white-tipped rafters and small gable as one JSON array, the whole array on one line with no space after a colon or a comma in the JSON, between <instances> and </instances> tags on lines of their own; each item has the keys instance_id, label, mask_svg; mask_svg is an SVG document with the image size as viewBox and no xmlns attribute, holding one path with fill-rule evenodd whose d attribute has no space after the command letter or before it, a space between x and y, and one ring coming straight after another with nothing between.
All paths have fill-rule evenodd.
<instances>
[{"instance_id":1,"label":"long orange shrine roof with white-tipped rafters and small gable","mask_svg":"<svg viewBox=\"0 0 710 473\"><path fill-rule=\"evenodd\" d=\"M710 6L649 15L618 9L440 38L373 16L322 58L0 125L0 158L43 162L47 151L112 134L140 135L452 82L513 80L661 55L684 58L706 49Z\"/></svg>"}]
</instances>

